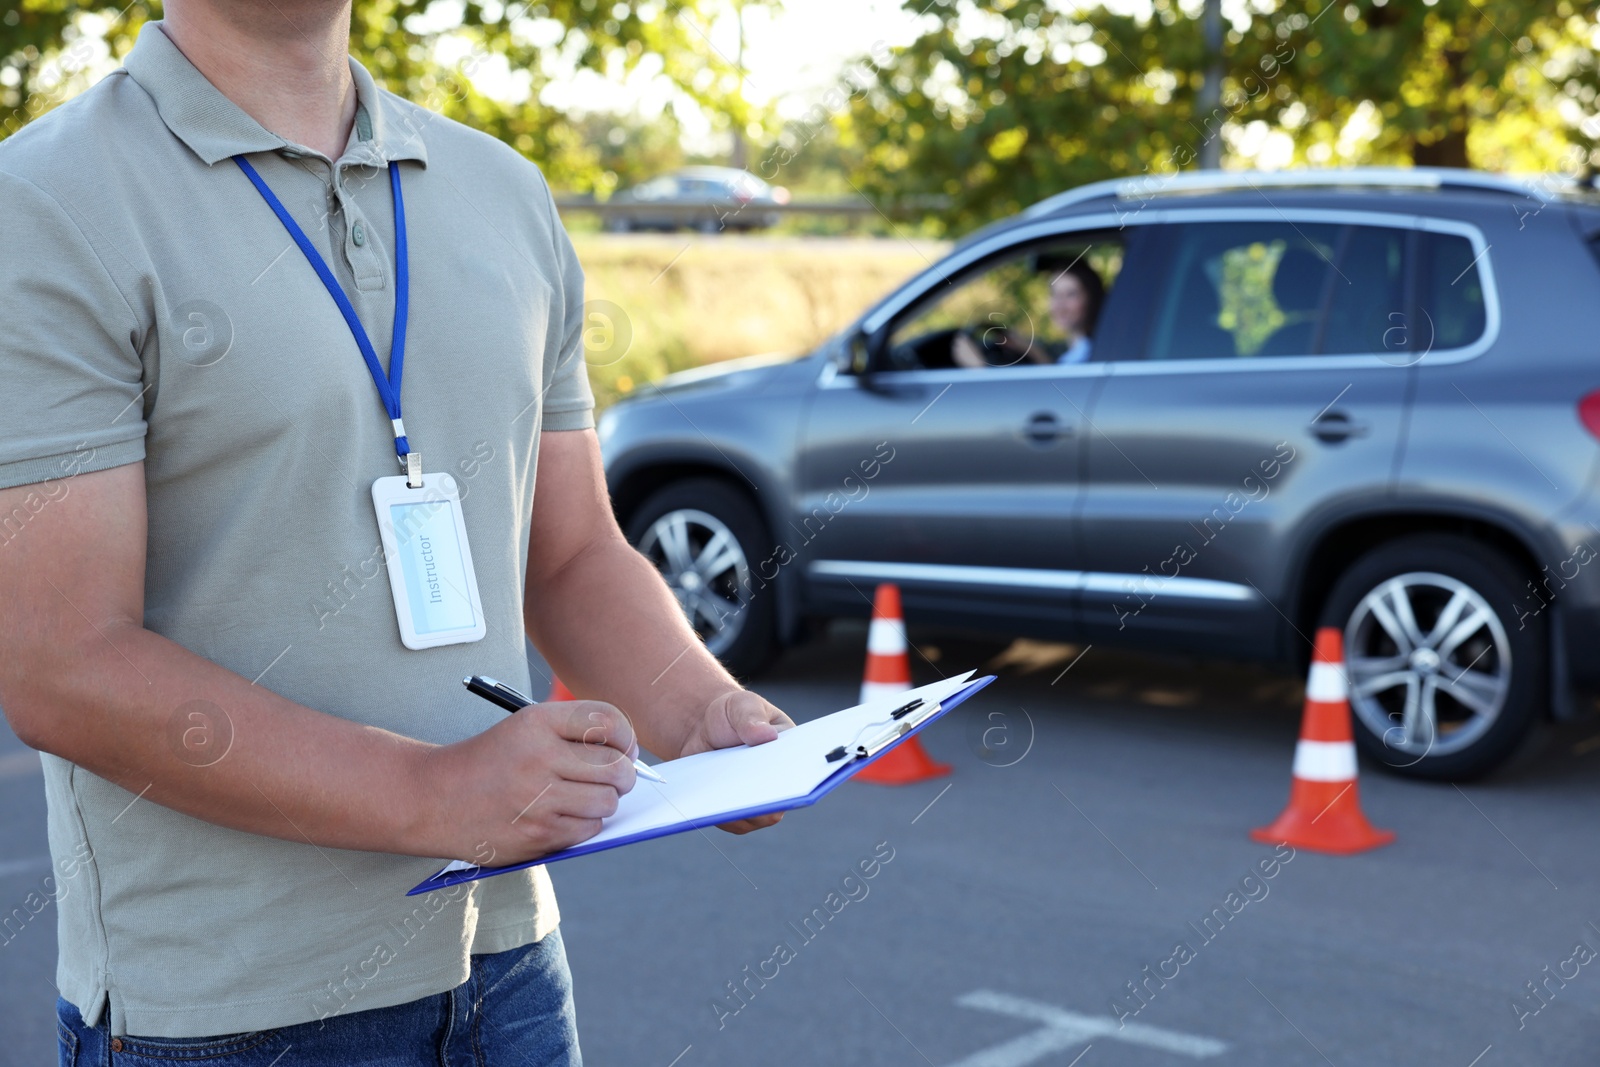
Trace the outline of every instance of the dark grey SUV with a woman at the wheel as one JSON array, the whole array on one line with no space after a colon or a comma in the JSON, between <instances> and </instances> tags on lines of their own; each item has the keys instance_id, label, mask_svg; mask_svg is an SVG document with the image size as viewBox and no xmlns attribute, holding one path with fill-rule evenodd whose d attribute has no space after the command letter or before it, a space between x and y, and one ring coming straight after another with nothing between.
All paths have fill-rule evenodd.
<instances>
[{"instance_id":1,"label":"dark grey SUV with a woman at the wheel","mask_svg":"<svg viewBox=\"0 0 1600 1067\"><path fill-rule=\"evenodd\" d=\"M923 622L1293 665L1333 625L1360 744L1482 774L1600 685L1597 235L1586 186L1472 171L1098 182L806 357L616 405L613 501L738 672L880 581Z\"/></svg>"}]
</instances>

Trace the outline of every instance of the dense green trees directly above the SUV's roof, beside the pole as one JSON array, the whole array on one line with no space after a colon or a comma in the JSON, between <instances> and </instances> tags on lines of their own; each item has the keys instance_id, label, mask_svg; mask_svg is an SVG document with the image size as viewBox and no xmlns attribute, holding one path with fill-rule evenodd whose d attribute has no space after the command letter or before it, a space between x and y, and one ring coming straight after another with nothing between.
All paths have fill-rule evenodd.
<instances>
[{"instance_id":1,"label":"dense green trees directly above the SUV's roof, beside the pole","mask_svg":"<svg viewBox=\"0 0 1600 1067\"><path fill-rule=\"evenodd\" d=\"M917 10L925 0L914 0ZM907 8L912 0L907 0ZM949 197L966 229L1061 189L1197 165L1253 128L1312 163L1584 170L1600 123L1594 5L1266 0L1226 35L1221 106L1197 96L1200 19L1054 0L934 0L843 128L880 202Z\"/></svg>"}]
</instances>

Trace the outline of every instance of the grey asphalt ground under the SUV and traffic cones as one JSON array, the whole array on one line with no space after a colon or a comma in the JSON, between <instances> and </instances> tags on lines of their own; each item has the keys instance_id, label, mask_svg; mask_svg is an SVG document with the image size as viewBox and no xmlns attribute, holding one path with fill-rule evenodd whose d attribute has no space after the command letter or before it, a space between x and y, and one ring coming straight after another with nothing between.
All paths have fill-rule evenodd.
<instances>
[{"instance_id":1,"label":"grey asphalt ground under the SUV and traffic cones","mask_svg":"<svg viewBox=\"0 0 1600 1067\"><path fill-rule=\"evenodd\" d=\"M918 683L995 651L914 638ZM755 688L797 718L853 704L861 649L859 629L835 630ZM586 1061L1600 1059L1600 961L1584 965L1600 952L1600 725L1554 731L1462 789L1366 768L1366 811L1398 841L1282 857L1246 830L1288 789L1296 678L1059 645L1005 659L925 734L955 766L942 781L850 784L750 837L686 833L552 869ZM46 873L29 760L0 736L6 910ZM862 861L874 877L846 881ZM1205 926L1216 910L1226 921ZM50 913L0 944L0 1064L54 1062L53 952Z\"/></svg>"}]
</instances>

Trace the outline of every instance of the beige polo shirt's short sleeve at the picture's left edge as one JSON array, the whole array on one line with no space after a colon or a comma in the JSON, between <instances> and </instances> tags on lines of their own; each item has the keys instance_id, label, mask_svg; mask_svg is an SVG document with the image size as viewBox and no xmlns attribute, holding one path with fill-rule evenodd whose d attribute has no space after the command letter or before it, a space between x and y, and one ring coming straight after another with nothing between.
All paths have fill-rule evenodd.
<instances>
[{"instance_id":1,"label":"beige polo shirt's short sleeve at the picture's left edge","mask_svg":"<svg viewBox=\"0 0 1600 1067\"><path fill-rule=\"evenodd\" d=\"M72 218L0 173L0 488L144 459L138 317Z\"/></svg>"}]
</instances>

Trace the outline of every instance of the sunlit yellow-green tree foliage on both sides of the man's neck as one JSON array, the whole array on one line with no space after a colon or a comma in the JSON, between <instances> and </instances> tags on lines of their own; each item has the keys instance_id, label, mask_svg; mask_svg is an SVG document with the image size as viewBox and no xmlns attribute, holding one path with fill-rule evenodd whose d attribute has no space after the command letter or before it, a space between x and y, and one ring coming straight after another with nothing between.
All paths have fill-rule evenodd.
<instances>
[{"instance_id":1,"label":"sunlit yellow-green tree foliage on both sides of the man's neck","mask_svg":"<svg viewBox=\"0 0 1600 1067\"><path fill-rule=\"evenodd\" d=\"M432 0L365 0L355 5L350 51L386 88L446 117L483 130L539 162L560 189L606 192L635 181L661 160L658 138L597 142L594 118L546 106L541 93L576 70L626 74L653 58L659 77L691 104L712 114L736 114L739 74L710 46L702 22L720 10L715 0L538 0L493 3L467 0L459 22L438 27L427 18ZM93 37L102 34L114 56L133 46L139 27L160 16L158 0L94 3L13 0L0 16L0 136L83 88ZM530 21L539 30L530 37ZM437 59L443 38L464 54ZM477 80L504 62L526 77L526 99L506 102L483 94ZM477 80L475 80L477 78ZM619 120L627 126L626 117ZM670 125L670 120L667 120Z\"/></svg>"}]
</instances>

